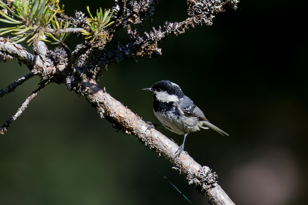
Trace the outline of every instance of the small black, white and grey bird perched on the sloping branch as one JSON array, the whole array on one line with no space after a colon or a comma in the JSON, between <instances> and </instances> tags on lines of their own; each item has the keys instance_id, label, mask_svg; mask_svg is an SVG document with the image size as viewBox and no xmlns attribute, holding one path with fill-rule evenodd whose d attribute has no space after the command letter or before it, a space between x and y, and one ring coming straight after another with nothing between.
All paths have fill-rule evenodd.
<instances>
[{"instance_id":1,"label":"small black, white and grey bird perched on the sloping branch","mask_svg":"<svg viewBox=\"0 0 308 205\"><path fill-rule=\"evenodd\" d=\"M152 85L151 88L144 88L153 94L154 103L153 110L155 116L163 125L152 124L149 128L156 128L157 126L164 127L176 134L183 135L184 141L179 149L175 152L175 158L180 157L184 150L184 142L189 132L196 132L203 129L213 129L221 135L227 133L211 124L193 101L190 100L180 86L170 81L159 81Z\"/></svg>"}]
</instances>

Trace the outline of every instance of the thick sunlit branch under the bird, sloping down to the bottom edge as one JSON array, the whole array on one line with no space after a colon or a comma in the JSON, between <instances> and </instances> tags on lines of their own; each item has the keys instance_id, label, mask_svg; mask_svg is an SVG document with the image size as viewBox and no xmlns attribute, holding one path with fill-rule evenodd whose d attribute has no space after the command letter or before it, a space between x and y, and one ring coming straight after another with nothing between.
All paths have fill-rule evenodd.
<instances>
[{"instance_id":1,"label":"thick sunlit branch under the bird, sloping down to the bottom edge","mask_svg":"<svg viewBox=\"0 0 308 205\"><path fill-rule=\"evenodd\" d=\"M174 158L179 148L173 141L156 129L147 130L148 124L139 116L111 97L105 89L101 89L94 80L84 79L75 90L97 109L101 117L105 117L113 126L127 134L133 134L158 156L164 156L180 173L186 176L188 184L208 197L211 204L235 205L229 196L215 181L216 173L206 166L202 167L183 151L180 158Z\"/></svg>"}]
</instances>

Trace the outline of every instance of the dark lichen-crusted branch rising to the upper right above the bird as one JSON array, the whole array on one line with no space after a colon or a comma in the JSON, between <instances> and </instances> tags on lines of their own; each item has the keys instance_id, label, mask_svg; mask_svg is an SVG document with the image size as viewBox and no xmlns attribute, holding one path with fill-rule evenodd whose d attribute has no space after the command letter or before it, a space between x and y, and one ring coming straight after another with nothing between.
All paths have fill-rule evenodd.
<instances>
[{"instance_id":1,"label":"dark lichen-crusted branch rising to the upper right above the bird","mask_svg":"<svg viewBox=\"0 0 308 205\"><path fill-rule=\"evenodd\" d=\"M127 25L128 34L131 36L132 41L125 46L118 45L118 48L112 51L102 52L100 56L93 55L92 62L95 63L88 63L85 70L88 72L96 71L94 74L99 74L101 70L107 70L109 65L128 57L143 55L159 57L162 53L161 49L158 48L158 44L168 35L183 34L186 30L201 26L202 24L212 25L215 15L223 12L226 6L232 6L233 9L236 9L237 2L237 0L189 1L188 14L192 17L182 22L165 22L163 28L160 26L156 30L153 27L153 31L145 32L143 37L140 36L137 30L132 31L130 26Z\"/></svg>"}]
</instances>

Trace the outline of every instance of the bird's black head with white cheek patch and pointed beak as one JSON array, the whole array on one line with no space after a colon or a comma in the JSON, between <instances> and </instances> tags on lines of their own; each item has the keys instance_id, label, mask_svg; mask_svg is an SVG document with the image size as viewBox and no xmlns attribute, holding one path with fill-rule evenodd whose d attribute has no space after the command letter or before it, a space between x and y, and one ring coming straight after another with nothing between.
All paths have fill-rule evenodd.
<instances>
[{"instance_id":1,"label":"bird's black head with white cheek patch and pointed beak","mask_svg":"<svg viewBox=\"0 0 308 205\"><path fill-rule=\"evenodd\" d=\"M170 101L170 99L179 99L184 96L180 86L166 80L154 83L151 88L143 90L152 92L153 97L159 101Z\"/></svg>"}]
</instances>

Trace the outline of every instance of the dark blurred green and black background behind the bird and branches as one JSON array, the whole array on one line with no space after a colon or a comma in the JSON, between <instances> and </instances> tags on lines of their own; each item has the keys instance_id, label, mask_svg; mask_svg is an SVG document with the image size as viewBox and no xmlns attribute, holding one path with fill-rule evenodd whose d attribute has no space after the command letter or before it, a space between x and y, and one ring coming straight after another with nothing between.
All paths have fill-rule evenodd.
<instances>
[{"instance_id":1,"label":"dark blurred green and black background behind the bird and branches","mask_svg":"<svg viewBox=\"0 0 308 205\"><path fill-rule=\"evenodd\" d=\"M61 0L65 12L92 14L112 0ZM306 204L307 32L305 1L247 1L217 16L213 26L169 36L159 58L138 57L109 67L99 85L145 121L159 123L152 96L142 88L170 80L217 127L190 133L185 151L216 171L218 184L237 205ZM153 23L188 17L185 1L161 1ZM7 26L1 24L1 27ZM129 40L114 35L111 49ZM82 39L71 37L74 48ZM23 44L26 46L26 44ZM54 48L48 45L49 48ZM31 50L30 47L27 47ZM0 89L26 75L26 66L0 63ZM39 78L0 99L4 123L37 87ZM183 136L158 128L181 144ZM188 186L163 157L132 135L115 132L65 85L48 85L0 137L0 204L190 204L208 200ZM168 178L166 180L164 176Z\"/></svg>"}]
</instances>

